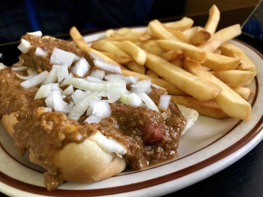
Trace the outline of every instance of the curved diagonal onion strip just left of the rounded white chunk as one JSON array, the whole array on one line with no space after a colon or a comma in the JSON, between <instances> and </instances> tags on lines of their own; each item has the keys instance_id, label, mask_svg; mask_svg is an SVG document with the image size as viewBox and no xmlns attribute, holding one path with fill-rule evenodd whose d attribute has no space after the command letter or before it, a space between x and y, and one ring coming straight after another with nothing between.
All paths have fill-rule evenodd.
<instances>
[{"instance_id":1,"label":"curved diagonal onion strip just left of the rounded white chunk","mask_svg":"<svg viewBox=\"0 0 263 197\"><path fill-rule=\"evenodd\" d=\"M68 115L68 118L78 120L80 116L87 110L91 100L99 100L101 97L98 96L97 92L86 95L81 101L75 104L74 108Z\"/></svg>"}]
</instances>

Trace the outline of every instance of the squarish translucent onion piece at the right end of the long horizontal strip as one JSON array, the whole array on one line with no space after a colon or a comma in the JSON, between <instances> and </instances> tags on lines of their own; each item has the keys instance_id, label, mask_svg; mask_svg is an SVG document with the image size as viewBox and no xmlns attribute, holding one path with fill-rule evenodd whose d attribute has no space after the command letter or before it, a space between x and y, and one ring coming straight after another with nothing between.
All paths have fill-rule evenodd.
<instances>
[{"instance_id":1,"label":"squarish translucent onion piece at the right end of the long horizontal strip","mask_svg":"<svg viewBox=\"0 0 263 197\"><path fill-rule=\"evenodd\" d=\"M110 100L116 101L125 91L126 82L121 79L114 78L107 83L107 97Z\"/></svg>"}]
</instances>

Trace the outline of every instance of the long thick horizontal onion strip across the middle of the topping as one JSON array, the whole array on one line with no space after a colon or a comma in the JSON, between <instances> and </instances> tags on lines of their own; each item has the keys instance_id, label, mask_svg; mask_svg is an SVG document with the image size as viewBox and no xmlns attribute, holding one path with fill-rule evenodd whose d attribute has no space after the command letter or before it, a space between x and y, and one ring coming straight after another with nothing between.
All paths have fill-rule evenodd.
<instances>
[{"instance_id":1,"label":"long thick horizontal onion strip across the middle of the topping","mask_svg":"<svg viewBox=\"0 0 263 197\"><path fill-rule=\"evenodd\" d=\"M80 78L71 78L68 80L67 84L72 85L73 87L81 90L91 90L91 91L104 91L107 89L106 83L94 83L86 81L85 79Z\"/></svg>"}]
</instances>

